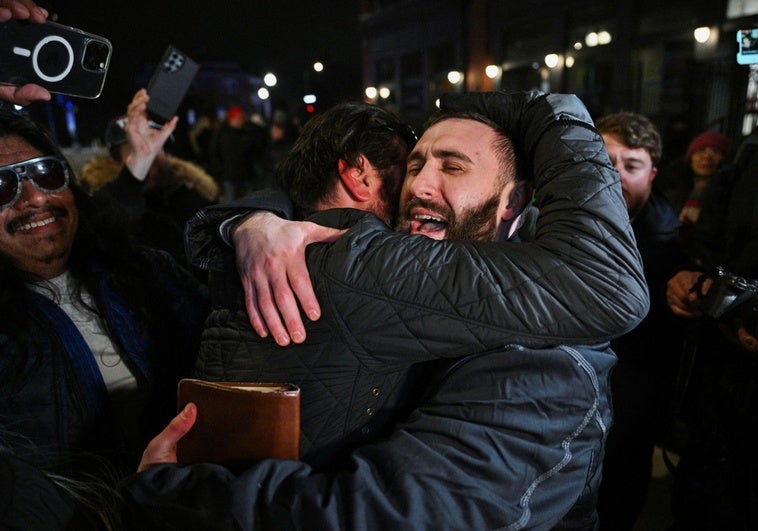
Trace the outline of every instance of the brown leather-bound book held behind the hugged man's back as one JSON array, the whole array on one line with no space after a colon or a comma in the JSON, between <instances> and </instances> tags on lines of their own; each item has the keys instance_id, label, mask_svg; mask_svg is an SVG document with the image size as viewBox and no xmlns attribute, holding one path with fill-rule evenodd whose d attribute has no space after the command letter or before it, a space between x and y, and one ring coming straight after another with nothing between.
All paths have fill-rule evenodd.
<instances>
[{"instance_id":1,"label":"brown leather-bound book held behind the hugged man's back","mask_svg":"<svg viewBox=\"0 0 758 531\"><path fill-rule=\"evenodd\" d=\"M290 383L184 379L179 411L197 406L197 420L176 445L179 463L298 459L300 388Z\"/></svg>"}]
</instances>

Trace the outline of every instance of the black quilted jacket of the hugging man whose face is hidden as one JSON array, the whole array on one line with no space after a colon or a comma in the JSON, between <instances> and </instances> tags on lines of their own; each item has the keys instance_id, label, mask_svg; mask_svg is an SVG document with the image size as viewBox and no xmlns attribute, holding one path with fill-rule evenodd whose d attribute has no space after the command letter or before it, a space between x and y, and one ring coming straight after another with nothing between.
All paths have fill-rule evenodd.
<instances>
[{"instance_id":1,"label":"black quilted jacket of the hugging man whose face is hidden","mask_svg":"<svg viewBox=\"0 0 758 531\"><path fill-rule=\"evenodd\" d=\"M600 343L633 328L647 288L618 177L581 103L560 103L557 120L549 100L535 100L525 133L512 133L534 143L534 242L436 242L392 232L370 214L321 213L321 223L357 224L334 245L309 247L322 317L300 345L283 349L249 326L231 249L218 244L218 220L237 210L203 211L189 224L190 253L211 269L218 308L196 376L300 385L303 458L320 464L327 448L364 443L397 418L418 387L414 363L507 343Z\"/></svg>"}]
</instances>

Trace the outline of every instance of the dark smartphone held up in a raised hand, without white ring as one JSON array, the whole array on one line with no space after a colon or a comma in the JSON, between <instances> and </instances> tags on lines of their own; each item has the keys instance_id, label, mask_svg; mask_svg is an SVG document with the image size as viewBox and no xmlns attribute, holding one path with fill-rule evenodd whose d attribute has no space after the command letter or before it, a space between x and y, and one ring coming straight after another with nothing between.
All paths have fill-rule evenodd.
<instances>
[{"instance_id":1,"label":"dark smartphone held up in a raised hand, without white ring","mask_svg":"<svg viewBox=\"0 0 758 531\"><path fill-rule=\"evenodd\" d=\"M198 70L200 65L187 54L171 45L166 48L147 85L147 112L152 121L163 124L174 117Z\"/></svg>"}]
</instances>

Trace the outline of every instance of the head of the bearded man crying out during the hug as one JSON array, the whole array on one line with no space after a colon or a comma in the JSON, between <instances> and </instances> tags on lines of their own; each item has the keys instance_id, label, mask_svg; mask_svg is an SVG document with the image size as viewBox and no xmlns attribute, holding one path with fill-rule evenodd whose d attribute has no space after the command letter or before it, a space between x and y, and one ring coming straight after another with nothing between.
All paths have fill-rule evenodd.
<instances>
[{"instance_id":1,"label":"head of the bearded man crying out during the hug","mask_svg":"<svg viewBox=\"0 0 758 531\"><path fill-rule=\"evenodd\" d=\"M440 115L408 157L398 230L435 240L495 240L529 199L530 186L516 177L510 139L493 124L473 113Z\"/></svg>"}]
</instances>

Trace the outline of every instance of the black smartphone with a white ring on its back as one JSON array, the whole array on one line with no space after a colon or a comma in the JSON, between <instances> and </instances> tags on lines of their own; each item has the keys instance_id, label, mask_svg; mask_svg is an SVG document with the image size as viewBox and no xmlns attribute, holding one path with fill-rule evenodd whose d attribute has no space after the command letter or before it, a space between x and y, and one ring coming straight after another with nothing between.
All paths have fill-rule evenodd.
<instances>
[{"instance_id":1,"label":"black smartphone with a white ring on its back","mask_svg":"<svg viewBox=\"0 0 758 531\"><path fill-rule=\"evenodd\" d=\"M55 22L0 23L0 83L34 83L50 92L100 96L111 60L108 39Z\"/></svg>"}]
</instances>

